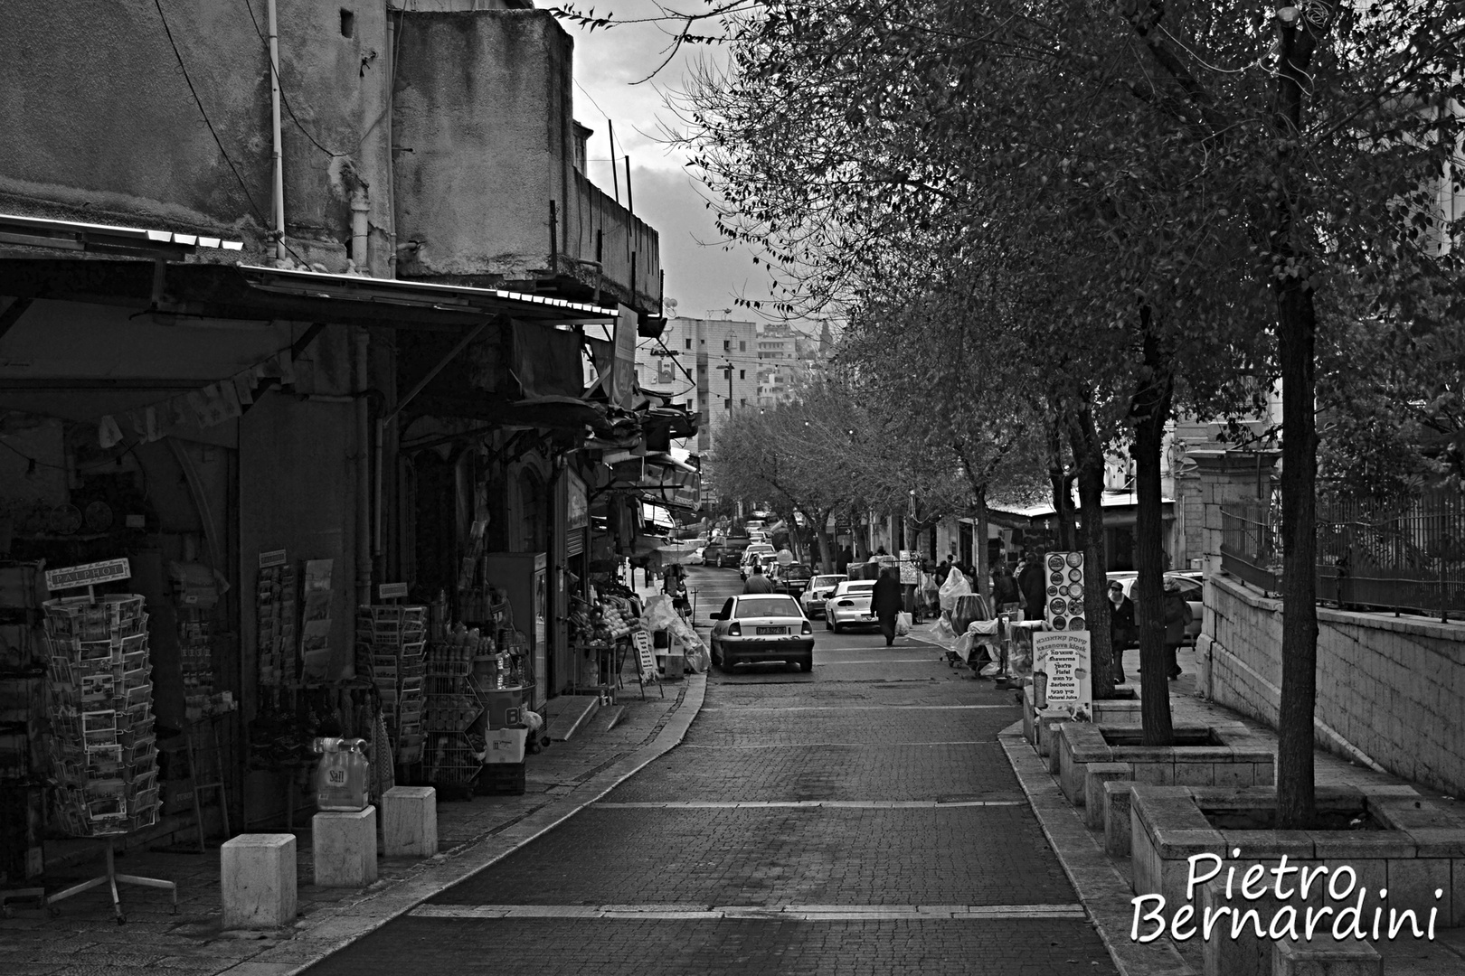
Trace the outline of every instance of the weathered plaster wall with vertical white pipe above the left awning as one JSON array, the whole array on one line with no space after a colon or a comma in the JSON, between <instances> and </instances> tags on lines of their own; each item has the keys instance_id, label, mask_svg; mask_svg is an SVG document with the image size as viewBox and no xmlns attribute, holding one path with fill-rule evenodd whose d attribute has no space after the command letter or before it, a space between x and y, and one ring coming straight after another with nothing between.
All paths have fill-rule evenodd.
<instances>
[{"instance_id":1,"label":"weathered plaster wall with vertical white pipe above the left awning","mask_svg":"<svg viewBox=\"0 0 1465 976\"><path fill-rule=\"evenodd\" d=\"M271 214L267 45L242 3L171 0L163 10L167 31L152 0L6 6L0 205L243 236L258 256ZM343 35L343 10L353 15L352 37ZM253 13L265 31L265 4ZM387 129L375 124L390 86L385 7L280 0L278 25L280 78L299 119L283 113L287 239L306 259L340 269L350 237L347 168L372 187L372 222L385 227L390 217Z\"/></svg>"}]
</instances>

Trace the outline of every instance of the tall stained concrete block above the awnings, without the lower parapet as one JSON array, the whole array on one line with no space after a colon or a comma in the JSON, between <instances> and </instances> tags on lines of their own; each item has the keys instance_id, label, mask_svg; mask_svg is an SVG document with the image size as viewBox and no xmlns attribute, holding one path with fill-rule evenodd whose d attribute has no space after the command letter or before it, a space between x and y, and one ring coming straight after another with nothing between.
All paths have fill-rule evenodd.
<instances>
[{"instance_id":1,"label":"tall stained concrete block above the awnings, without the lower parapet","mask_svg":"<svg viewBox=\"0 0 1465 976\"><path fill-rule=\"evenodd\" d=\"M394 102L403 277L549 266L573 193L570 37L544 10L406 13ZM410 152L409 152L410 151Z\"/></svg>"}]
</instances>

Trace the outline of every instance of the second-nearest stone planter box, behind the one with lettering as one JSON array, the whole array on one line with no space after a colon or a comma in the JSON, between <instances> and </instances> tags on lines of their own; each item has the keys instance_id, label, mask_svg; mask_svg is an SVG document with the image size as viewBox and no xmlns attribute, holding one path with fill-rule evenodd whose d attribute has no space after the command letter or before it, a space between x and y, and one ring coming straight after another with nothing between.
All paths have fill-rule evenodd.
<instances>
[{"instance_id":1,"label":"second-nearest stone planter box, behind the one with lettering","mask_svg":"<svg viewBox=\"0 0 1465 976\"><path fill-rule=\"evenodd\" d=\"M1272 745L1239 721L1176 726L1175 735L1204 745L1141 746L1134 726L1065 723L1053 742L1064 796L1074 806L1086 806L1088 767L1112 762L1128 764L1128 778L1135 783L1160 786L1270 786L1275 781Z\"/></svg>"}]
</instances>

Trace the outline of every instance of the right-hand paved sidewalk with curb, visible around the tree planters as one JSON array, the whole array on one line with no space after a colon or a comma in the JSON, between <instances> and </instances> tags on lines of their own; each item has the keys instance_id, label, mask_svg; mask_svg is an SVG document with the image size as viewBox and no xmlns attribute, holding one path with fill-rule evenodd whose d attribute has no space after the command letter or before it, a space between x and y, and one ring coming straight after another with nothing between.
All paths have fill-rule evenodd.
<instances>
[{"instance_id":1,"label":"right-hand paved sidewalk with curb, visible around the tree planters","mask_svg":"<svg viewBox=\"0 0 1465 976\"><path fill-rule=\"evenodd\" d=\"M1194 697L1195 663L1194 651L1182 648L1179 656L1185 675L1171 688L1171 711L1175 724L1209 724L1214 721L1239 721L1276 746L1276 733L1254 718L1239 716L1220 705ZM1124 656L1125 673L1134 677L1138 689L1138 651ZM1103 850L1103 830L1091 831L1080 812L1068 803L1058 780L1047 773L1046 762L1037 757L1023 737L1021 723L1005 729L999 736L1008 761L1027 793L1047 836L1078 893L1080 901L1088 909L1115 966L1122 976L1194 976L1203 972L1201 942L1172 942L1168 938L1147 945L1130 939L1134 897L1132 872L1128 857L1110 857ZM1403 783L1405 780L1355 765L1339 757L1317 751L1314 754L1316 781L1327 784L1377 784ZM1465 815L1465 803L1446 797L1425 786L1411 783L1421 795L1430 796L1444 806ZM1436 932L1436 941L1401 939L1374 944L1384 958L1389 976L1458 976L1465 972L1465 929L1443 929Z\"/></svg>"}]
</instances>

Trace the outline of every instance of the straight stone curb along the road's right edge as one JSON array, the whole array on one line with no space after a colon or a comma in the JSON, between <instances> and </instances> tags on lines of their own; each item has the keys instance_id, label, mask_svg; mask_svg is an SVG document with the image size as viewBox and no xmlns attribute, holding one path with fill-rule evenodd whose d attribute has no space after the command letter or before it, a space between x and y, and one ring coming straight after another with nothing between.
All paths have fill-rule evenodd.
<instances>
[{"instance_id":1,"label":"straight stone curb along the road's right edge","mask_svg":"<svg viewBox=\"0 0 1465 976\"><path fill-rule=\"evenodd\" d=\"M1015 721L999 732L998 742L1121 976L1195 976L1169 939L1147 944L1130 939L1134 891L1023 737L1023 723Z\"/></svg>"}]
</instances>

